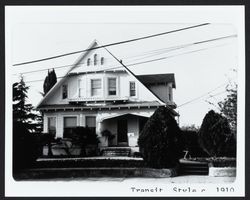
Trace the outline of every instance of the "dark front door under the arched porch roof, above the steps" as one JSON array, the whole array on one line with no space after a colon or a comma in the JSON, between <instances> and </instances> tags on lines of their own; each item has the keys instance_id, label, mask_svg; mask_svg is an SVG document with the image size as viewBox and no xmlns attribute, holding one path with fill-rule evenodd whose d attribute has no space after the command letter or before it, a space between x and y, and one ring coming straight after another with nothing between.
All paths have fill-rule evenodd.
<instances>
[{"instance_id":1,"label":"dark front door under the arched porch roof, above the steps","mask_svg":"<svg viewBox=\"0 0 250 200\"><path fill-rule=\"evenodd\" d=\"M117 143L119 146L128 146L128 122L126 119L117 120Z\"/></svg>"}]
</instances>

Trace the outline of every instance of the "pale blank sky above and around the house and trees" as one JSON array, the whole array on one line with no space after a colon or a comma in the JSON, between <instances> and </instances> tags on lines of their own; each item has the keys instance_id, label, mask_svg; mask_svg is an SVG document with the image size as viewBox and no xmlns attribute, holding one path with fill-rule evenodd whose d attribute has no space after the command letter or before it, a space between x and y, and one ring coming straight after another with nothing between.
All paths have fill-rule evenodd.
<instances>
[{"instance_id":1,"label":"pale blank sky above and around the house and trees","mask_svg":"<svg viewBox=\"0 0 250 200\"><path fill-rule=\"evenodd\" d=\"M11 7L6 10L6 67L11 69L11 82L24 73L30 86L29 102L36 106L42 98L47 71L25 72L71 65L80 54L22 66L13 64L84 50L94 39L105 45L208 22L211 24L108 47L125 65L163 58L129 69L135 74L174 73L173 98L180 106L176 109L180 125L200 126L205 114L216 109L208 102L223 100L227 83L237 82L241 30L234 20L234 12L219 8ZM186 44L190 45L175 49ZM58 77L67 70L55 68Z\"/></svg>"}]
</instances>

